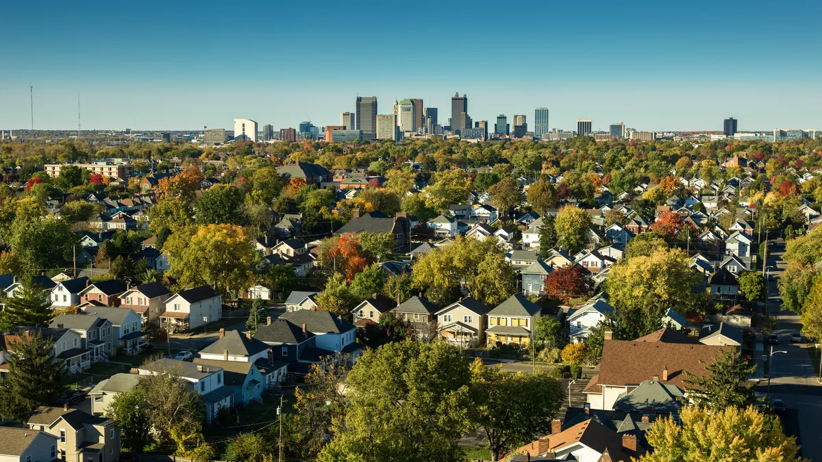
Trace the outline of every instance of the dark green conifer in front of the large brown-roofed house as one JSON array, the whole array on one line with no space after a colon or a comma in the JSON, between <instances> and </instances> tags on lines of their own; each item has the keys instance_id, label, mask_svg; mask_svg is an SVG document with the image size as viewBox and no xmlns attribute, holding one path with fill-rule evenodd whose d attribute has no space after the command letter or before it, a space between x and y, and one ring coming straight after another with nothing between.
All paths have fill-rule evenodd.
<instances>
[{"instance_id":1,"label":"dark green conifer in front of the large brown-roofed house","mask_svg":"<svg viewBox=\"0 0 822 462\"><path fill-rule=\"evenodd\" d=\"M698 406L727 409L731 406L744 409L756 401L754 389L746 383L756 370L734 348L724 348L713 355L711 363L700 360L707 373L692 375L686 371L688 400Z\"/></svg>"}]
</instances>

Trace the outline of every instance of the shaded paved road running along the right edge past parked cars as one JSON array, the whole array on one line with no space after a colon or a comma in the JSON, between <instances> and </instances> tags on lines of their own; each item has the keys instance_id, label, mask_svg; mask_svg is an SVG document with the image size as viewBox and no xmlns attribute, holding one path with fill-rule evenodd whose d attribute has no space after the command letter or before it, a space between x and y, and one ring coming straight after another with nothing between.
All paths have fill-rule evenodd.
<instances>
[{"instance_id":1,"label":"shaded paved road running along the right edge past parked cars","mask_svg":"<svg viewBox=\"0 0 822 462\"><path fill-rule=\"evenodd\" d=\"M779 239L771 247L768 266L774 280L769 283L769 309L777 316L779 344L774 345L771 363L771 399L783 400L789 409L783 418L787 432L797 434L802 446L802 455L810 460L822 461L822 386L816 382L813 364L807 352L806 341L792 344L790 335L801 330L799 316L794 312L780 312L782 299L776 285L785 270L782 260L784 242ZM760 391L767 392L767 386L760 386Z\"/></svg>"}]
</instances>

